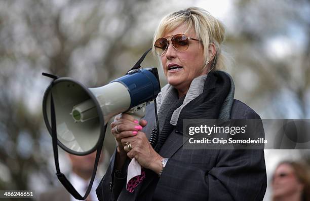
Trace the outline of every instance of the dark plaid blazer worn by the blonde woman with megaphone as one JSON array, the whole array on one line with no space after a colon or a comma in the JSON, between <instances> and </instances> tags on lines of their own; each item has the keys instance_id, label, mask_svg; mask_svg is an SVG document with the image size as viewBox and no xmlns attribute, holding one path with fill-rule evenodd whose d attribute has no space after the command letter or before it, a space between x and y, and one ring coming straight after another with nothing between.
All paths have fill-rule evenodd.
<instances>
[{"instance_id":1,"label":"dark plaid blazer worn by the blonde woman with megaphone","mask_svg":"<svg viewBox=\"0 0 310 201\"><path fill-rule=\"evenodd\" d=\"M246 104L234 100L231 119L260 119ZM150 135L154 109L147 107L143 129ZM182 149L182 135L173 131L159 154L168 163L157 185L141 183L134 193L126 188L126 178L114 177L115 153L96 192L99 200L262 200L266 191L263 150ZM127 162L128 164L129 162ZM124 171L126 171L127 164Z\"/></svg>"}]
</instances>

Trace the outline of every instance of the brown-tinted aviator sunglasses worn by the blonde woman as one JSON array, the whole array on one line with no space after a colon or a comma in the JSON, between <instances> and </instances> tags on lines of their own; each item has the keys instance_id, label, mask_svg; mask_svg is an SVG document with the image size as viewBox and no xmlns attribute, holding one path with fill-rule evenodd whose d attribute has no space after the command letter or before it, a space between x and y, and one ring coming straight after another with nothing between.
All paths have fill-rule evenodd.
<instances>
[{"instance_id":1,"label":"brown-tinted aviator sunglasses worn by the blonde woman","mask_svg":"<svg viewBox=\"0 0 310 201\"><path fill-rule=\"evenodd\" d=\"M189 46L188 40L199 41L198 39L187 37L185 34L170 35L167 37L158 38L154 44L155 52L158 55L163 55L169 46L169 39L171 38L171 44L177 51L185 51Z\"/></svg>"}]
</instances>

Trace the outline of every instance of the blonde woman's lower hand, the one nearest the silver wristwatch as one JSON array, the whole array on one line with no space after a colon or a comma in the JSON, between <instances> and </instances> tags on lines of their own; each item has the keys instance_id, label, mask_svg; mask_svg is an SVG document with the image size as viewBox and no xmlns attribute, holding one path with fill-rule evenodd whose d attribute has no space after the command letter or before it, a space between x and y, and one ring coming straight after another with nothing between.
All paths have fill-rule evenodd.
<instances>
[{"instance_id":1,"label":"blonde woman's lower hand, the one nearest the silver wristwatch","mask_svg":"<svg viewBox=\"0 0 310 201\"><path fill-rule=\"evenodd\" d=\"M136 158L142 167L150 169L157 174L159 174L163 169L161 161L163 157L153 149L148 139L146 138L145 133L139 131L137 135L122 138L121 141L122 144L126 147L125 150L128 151L128 157ZM126 143L130 143L131 150L128 149Z\"/></svg>"}]
</instances>

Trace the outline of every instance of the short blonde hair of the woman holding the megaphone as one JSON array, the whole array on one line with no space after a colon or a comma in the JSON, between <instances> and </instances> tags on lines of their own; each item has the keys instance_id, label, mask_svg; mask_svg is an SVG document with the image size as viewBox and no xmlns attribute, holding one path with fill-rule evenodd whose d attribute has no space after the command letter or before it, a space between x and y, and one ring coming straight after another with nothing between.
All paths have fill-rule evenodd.
<instances>
[{"instance_id":1,"label":"short blonde hair of the woman holding the megaphone","mask_svg":"<svg viewBox=\"0 0 310 201\"><path fill-rule=\"evenodd\" d=\"M216 70L225 68L225 58L221 50L221 44L224 41L225 34L224 25L205 9L190 7L164 17L154 33L153 44L158 38L163 37L165 32L173 31L183 24L187 26L185 33L191 28L195 30L197 39L199 39L204 47L205 62L210 62L210 55L208 54L209 44L214 44L216 54L212 61L211 69ZM152 48L152 51L154 55L156 55L154 47Z\"/></svg>"}]
</instances>

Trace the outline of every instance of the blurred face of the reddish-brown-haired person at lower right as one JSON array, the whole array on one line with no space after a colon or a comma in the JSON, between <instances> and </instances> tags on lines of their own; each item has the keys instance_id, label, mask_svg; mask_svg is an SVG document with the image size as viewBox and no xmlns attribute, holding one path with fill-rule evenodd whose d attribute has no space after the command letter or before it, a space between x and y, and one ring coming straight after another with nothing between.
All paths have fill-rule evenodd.
<instances>
[{"instance_id":1,"label":"blurred face of the reddish-brown-haired person at lower right","mask_svg":"<svg viewBox=\"0 0 310 201\"><path fill-rule=\"evenodd\" d=\"M273 178L273 196L283 197L300 192L303 185L298 181L294 169L289 164L281 164Z\"/></svg>"}]
</instances>

